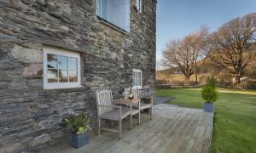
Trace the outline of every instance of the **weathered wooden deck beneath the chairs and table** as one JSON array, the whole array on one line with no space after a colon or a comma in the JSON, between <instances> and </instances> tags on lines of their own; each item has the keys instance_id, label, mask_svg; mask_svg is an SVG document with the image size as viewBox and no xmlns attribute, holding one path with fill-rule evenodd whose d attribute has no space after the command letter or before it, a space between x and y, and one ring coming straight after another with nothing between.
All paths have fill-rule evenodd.
<instances>
[{"instance_id":1,"label":"weathered wooden deck beneath the chairs and table","mask_svg":"<svg viewBox=\"0 0 256 153\"><path fill-rule=\"evenodd\" d=\"M209 152L213 114L173 105L154 105L154 118L142 116L142 124L129 129L124 123L122 139L117 133L92 135L90 144L73 149L67 142L55 144L43 153L120 153L120 152Z\"/></svg>"}]
</instances>

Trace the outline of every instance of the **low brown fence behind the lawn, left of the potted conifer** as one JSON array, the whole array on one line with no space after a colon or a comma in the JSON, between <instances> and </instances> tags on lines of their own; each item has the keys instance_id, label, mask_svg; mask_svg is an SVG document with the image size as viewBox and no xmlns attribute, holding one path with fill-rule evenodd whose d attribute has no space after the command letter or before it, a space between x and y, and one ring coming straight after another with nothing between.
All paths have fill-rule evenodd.
<instances>
[{"instance_id":1,"label":"low brown fence behind the lawn, left of the potted conifer","mask_svg":"<svg viewBox=\"0 0 256 153\"><path fill-rule=\"evenodd\" d=\"M157 82L156 88L198 88L206 82Z\"/></svg>"}]
</instances>

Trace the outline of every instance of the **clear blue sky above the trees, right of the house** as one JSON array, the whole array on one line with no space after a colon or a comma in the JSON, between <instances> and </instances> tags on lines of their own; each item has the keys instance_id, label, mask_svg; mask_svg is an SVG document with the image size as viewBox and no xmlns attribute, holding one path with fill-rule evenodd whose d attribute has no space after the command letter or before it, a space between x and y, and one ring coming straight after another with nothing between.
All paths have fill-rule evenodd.
<instances>
[{"instance_id":1,"label":"clear blue sky above the trees, right of the house","mask_svg":"<svg viewBox=\"0 0 256 153\"><path fill-rule=\"evenodd\" d=\"M218 30L229 20L256 12L256 0L158 0L156 22L156 59L166 43L183 38L207 26Z\"/></svg>"}]
</instances>

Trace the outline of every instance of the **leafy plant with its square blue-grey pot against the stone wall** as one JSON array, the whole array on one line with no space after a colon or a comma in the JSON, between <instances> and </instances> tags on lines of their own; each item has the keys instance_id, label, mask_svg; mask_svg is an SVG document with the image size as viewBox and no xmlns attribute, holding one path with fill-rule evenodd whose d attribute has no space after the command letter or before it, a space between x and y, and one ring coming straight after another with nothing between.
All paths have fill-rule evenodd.
<instances>
[{"instance_id":1,"label":"leafy plant with its square blue-grey pot against the stone wall","mask_svg":"<svg viewBox=\"0 0 256 153\"><path fill-rule=\"evenodd\" d=\"M90 117L84 112L79 115L71 114L68 116L64 122L67 123L68 127L71 127L71 139L70 145L74 148L80 148L85 144L89 143L88 132L90 131Z\"/></svg>"}]
</instances>

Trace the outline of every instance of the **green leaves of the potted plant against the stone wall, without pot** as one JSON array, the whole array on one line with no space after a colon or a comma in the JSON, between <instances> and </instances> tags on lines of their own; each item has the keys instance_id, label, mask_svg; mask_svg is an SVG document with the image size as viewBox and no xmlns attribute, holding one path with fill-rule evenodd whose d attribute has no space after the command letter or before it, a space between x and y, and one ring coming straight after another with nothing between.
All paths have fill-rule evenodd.
<instances>
[{"instance_id":1,"label":"green leaves of the potted plant against the stone wall, without pot","mask_svg":"<svg viewBox=\"0 0 256 153\"><path fill-rule=\"evenodd\" d=\"M70 115L64 122L67 123L68 127L72 127L72 133L86 133L90 128L90 117L84 112L79 115Z\"/></svg>"}]
</instances>

